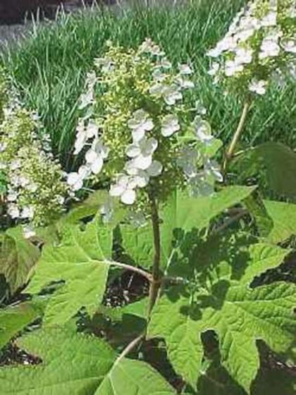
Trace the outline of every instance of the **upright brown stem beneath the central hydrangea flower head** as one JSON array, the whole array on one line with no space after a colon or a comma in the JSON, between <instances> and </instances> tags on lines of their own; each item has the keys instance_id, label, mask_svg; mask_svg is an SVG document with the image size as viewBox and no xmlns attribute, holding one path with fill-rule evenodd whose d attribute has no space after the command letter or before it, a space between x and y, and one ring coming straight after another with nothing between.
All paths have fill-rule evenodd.
<instances>
[{"instance_id":1,"label":"upright brown stem beneath the central hydrangea flower head","mask_svg":"<svg viewBox=\"0 0 296 395\"><path fill-rule=\"evenodd\" d=\"M152 281L149 288L149 303L148 303L148 320L151 315L152 309L159 294L161 286L161 272L160 272L160 259L161 259L161 238L159 229L159 212L153 193L149 194L151 212L152 212L152 227L154 238L154 261L152 267Z\"/></svg>"}]
</instances>

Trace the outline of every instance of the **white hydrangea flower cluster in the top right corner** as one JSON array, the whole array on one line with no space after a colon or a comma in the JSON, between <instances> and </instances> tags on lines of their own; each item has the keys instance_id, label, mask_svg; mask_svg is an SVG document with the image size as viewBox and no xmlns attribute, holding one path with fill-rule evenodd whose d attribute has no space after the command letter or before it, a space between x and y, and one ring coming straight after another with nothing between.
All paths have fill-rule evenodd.
<instances>
[{"instance_id":1,"label":"white hydrangea flower cluster in the top right corner","mask_svg":"<svg viewBox=\"0 0 296 395\"><path fill-rule=\"evenodd\" d=\"M270 78L292 71L295 10L295 0L254 0L243 7L226 36L208 51L214 82L236 81L236 88L264 95Z\"/></svg>"}]
</instances>

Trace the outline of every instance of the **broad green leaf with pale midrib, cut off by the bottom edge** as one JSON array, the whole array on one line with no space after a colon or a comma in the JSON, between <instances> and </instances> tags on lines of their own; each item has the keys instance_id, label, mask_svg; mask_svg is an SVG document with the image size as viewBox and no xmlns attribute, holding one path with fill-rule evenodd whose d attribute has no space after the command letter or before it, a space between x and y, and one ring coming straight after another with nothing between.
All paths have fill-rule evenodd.
<instances>
[{"instance_id":1,"label":"broad green leaf with pale midrib, cut off by the bottom edge","mask_svg":"<svg viewBox=\"0 0 296 395\"><path fill-rule=\"evenodd\" d=\"M1 395L175 394L146 363L119 360L104 341L73 329L43 329L18 344L42 363L0 369Z\"/></svg>"}]
</instances>

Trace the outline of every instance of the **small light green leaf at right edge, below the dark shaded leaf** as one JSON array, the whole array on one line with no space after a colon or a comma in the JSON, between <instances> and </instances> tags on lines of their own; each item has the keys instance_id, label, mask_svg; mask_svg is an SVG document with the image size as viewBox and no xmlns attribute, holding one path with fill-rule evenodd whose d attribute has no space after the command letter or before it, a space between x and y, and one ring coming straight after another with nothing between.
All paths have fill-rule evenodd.
<instances>
[{"instance_id":1,"label":"small light green leaf at right edge, below the dark shaded leaf","mask_svg":"<svg viewBox=\"0 0 296 395\"><path fill-rule=\"evenodd\" d=\"M264 205L273 220L273 229L267 236L269 241L281 243L296 235L296 205L272 200L264 200Z\"/></svg>"}]
</instances>

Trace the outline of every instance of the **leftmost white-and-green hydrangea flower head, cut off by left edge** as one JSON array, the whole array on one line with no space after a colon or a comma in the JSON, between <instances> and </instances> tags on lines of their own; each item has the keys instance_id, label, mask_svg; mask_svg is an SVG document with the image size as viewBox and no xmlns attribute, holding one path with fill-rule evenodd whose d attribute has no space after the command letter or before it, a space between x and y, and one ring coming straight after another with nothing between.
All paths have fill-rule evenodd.
<instances>
[{"instance_id":1,"label":"leftmost white-and-green hydrangea flower head, cut off by left edge","mask_svg":"<svg viewBox=\"0 0 296 395\"><path fill-rule=\"evenodd\" d=\"M3 96L2 96L3 97ZM22 109L13 97L3 104L0 164L6 217L31 227L44 226L63 211L68 186L51 153L50 138L40 137L36 114ZM30 224L30 226L29 226Z\"/></svg>"}]
</instances>

